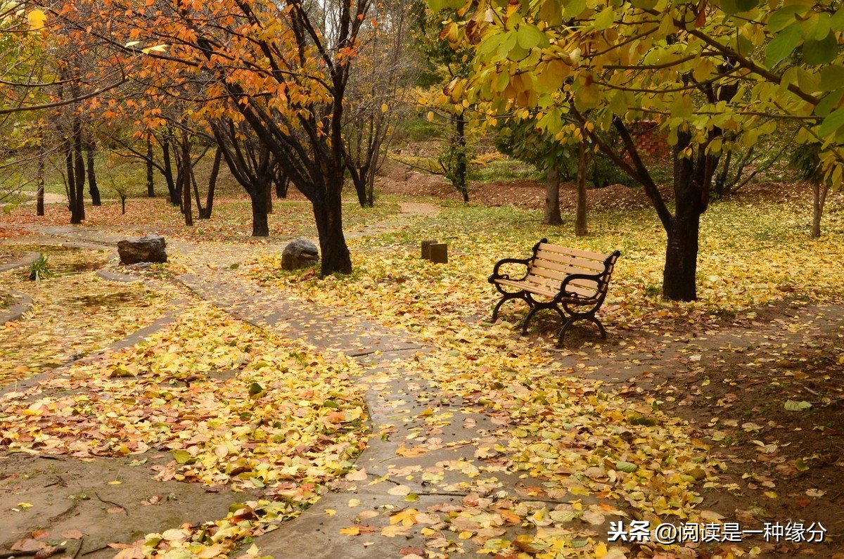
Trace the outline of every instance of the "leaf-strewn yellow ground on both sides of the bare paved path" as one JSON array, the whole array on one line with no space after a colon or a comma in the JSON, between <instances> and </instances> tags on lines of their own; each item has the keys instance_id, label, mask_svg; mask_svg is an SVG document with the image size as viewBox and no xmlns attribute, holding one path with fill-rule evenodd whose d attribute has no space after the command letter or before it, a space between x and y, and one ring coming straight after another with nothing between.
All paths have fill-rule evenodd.
<instances>
[{"instance_id":1,"label":"leaf-strewn yellow ground on both sides of the bare paved path","mask_svg":"<svg viewBox=\"0 0 844 559\"><path fill-rule=\"evenodd\" d=\"M844 533L838 514L844 497L836 489L844 484L844 213L834 199L825 236L815 241L808 236L809 204L773 198L753 192L713 204L705 214L701 300L695 303L659 297L664 234L650 210L633 205L593 212L590 236L576 238L567 226L541 225L535 211L509 206L446 204L439 214L393 222L398 200L388 198L379 214L350 212L353 227L378 221L383 227L352 236L355 271L348 277L280 272L280 255L266 247L243 248L238 266L227 270L244 284L419 340L431 350L379 365L436 387L452 408L480 410L489 418L484 437L490 442L474 453L484 464L480 468L461 463L397 470L408 480L420 476L428 486L439 486L440 470L451 467L479 480L452 488L473 491L475 497L464 498L460 507L427 510L408 498L408 507L393 510L392 529L381 536L413 533L425 541L400 555L445 557L479 549L520 559L836 556ZM282 235L311 231L303 205L279 207ZM106 213L92 214L93 228L138 226L114 208L97 211ZM150 209L147 217L155 214ZM63 225L65 217L56 214L45 223ZM167 219L173 228L168 231L178 231ZM33 223L19 214L13 221L24 230ZM197 252L224 241L220 250L231 251L228 234L235 226L242 230L242 223L235 217L222 225L212 220L202 224L202 233L197 226L176 236L201 240ZM523 258L542 236L570 247L622 252L601 312L610 330L607 342L586 326L576 328L567 349L556 350L555 316L541 317L520 338L517 323L525 309L516 302L504 307L500 323L484 322L495 304L495 291L485 281L493 263ZM419 242L436 237L449 243L447 265L419 258ZM162 518L152 534L104 540L121 559L259 556L252 538L284 529L280 519L317 502L327 486L360 474L354 458L365 447L367 412L356 379L367 373L359 363L244 323L160 280L191 268L184 255L163 267L171 268L169 275L153 274L160 279L146 274L146 283L117 283L95 274L110 265L107 252L24 244L4 250L9 258L48 252L61 274L41 285L23 270L0 275L3 289L24 291L35 303L24 320L0 332L0 351L8 356L0 361L0 385L7 387L0 400L0 464L22 464L30 455L83 462L110 457L162 484L194 481L211 495L243 496L231 497L237 504L210 521ZM146 340L97 353L167 311L170 323ZM89 357L70 362L84 355ZM14 388L44 372L51 373L35 377L40 383ZM452 421L446 404L419 415L429 431ZM436 435L414 435L397 454L413 458L441 445ZM495 486L484 494L486 476L500 473L540 481L519 488L517 500L496 497ZM3 475L3 488L24 491L27 480ZM121 483L86 496L100 503L104 518L168 502L164 489L140 494L125 484L124 492L114 492L124 485L115 478ZM408 486L398 487L391 495L412 497ZM15 526L31 527L44 513L39 506L17 503L10 512ZM83 535L60 517L55 533L18 533L16 549L45 549ZM821 522L829 541L775 543L756 536L743 543L679 546L610 542L609 518L653 525L738 522L747 530ZM368 525L359 518L341 534L371 537ZM511 526L525 534L507 535ZM464 550L461 542L473 547Z\"/></svg>"}]
</instances>

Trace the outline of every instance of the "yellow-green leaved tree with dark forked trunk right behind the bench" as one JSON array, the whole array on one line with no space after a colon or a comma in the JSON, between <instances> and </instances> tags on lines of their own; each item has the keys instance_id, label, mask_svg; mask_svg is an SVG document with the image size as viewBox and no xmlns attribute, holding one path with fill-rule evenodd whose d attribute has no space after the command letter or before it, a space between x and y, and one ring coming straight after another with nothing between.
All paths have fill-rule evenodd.
<instances>
[{"instance_id":1,"label":"yellow-green leaved tree with dark forked trunk right behind the bench","mask_svg":"<svg viewBox=\"0 0 844 559\"><path fill-rule=\"evenodd\" d=\"M430 0L433 8L458 3ZM481 0L452 22L448 38L476 47L470 97L492 111L538 107L543 127L560 138L575 132L564 120L571 115L643 185L668 235L663 296L691 301L700 216L722 153L755 144L779 120L797 122L798 142L822 144L822 166L841 184L840 4ZM673 145L674 213L630 137L629 123L641 117L660 122ZM627 158L600 138L597 130L609 129Z\"/></svg>"}]
</instances>

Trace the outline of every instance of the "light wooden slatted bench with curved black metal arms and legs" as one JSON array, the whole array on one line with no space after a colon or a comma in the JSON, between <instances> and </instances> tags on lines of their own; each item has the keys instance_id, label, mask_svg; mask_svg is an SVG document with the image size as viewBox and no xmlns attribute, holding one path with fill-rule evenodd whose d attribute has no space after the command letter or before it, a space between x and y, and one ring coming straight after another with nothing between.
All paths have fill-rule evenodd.
<instances>
[{"instance_id":1,"label":"light wooden slatted bench with curved black metal arms and legs","mask_svg":"<svg viewBox=\"0 0 844 559\"><path fill-rule=\"evenodd\" d=\"M495 264L490 275L490 284L501 294L501 300L492 312L492 322L498 320L498 311L505 301L522 299L530 312L522 323L522 334L527 334L527 324L541 309L553 309L560 314L564 323L560 328L557 346L563 345L565 331L577 320L588 320L598 325L601 337L606 339L607 331L595 313L607 296L609 279L613 274L615 261L621 252L600 254L560 247L542 239L533 246L530 258L504 258ZM514 279L502 274L502 266L519 264L527 268L522 277Z\"/></svg>"}]
</instances>

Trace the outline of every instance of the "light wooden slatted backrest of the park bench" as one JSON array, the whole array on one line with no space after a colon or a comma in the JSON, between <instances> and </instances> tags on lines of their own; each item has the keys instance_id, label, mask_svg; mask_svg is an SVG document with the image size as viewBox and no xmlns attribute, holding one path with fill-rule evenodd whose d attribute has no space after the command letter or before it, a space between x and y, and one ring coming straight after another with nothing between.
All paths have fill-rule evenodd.
<instances>
[{"instance_id":1,"label":"light wooden slatted backrest of the park bench","mask_svg":"<svg viewBox=\"0 0 844 559\"><path fill-rule=\"evenodd\" d=\"M618 251L601 254L560 247L543 239L533 247L533 261L527 279L559 290L563 279L572 274L600 274L598 279L571 279L565 290L587 299L603 299L619 255Z\"/></svg>"}]
</instances>

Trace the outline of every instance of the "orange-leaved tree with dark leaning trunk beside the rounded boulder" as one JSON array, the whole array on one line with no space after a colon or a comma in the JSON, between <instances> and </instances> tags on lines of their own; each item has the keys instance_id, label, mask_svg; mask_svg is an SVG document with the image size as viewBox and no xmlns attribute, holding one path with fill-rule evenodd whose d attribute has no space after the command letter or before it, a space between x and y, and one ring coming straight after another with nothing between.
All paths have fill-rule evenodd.
<instances>
[{"instance_id":1,"label":"orange-leaved tree with dark leaning trunk beside the rounded boulder","mask_svg":"<svg viewBox=\"0 0 844 559\"><path fill-rule=\"evenodd\" d=\"M200 76L208 85L190 99L194 120L237 115L251 127L311 201L322 274L349 273L341 198L344 99L370 7L370 0L225 0L176 8L118 1L101 20L78 25L124 52L143 46L138 79L154 80L161 92L174 80ZM138 43L126 47L127 41Z\"/></svg>"}]
</instances>

